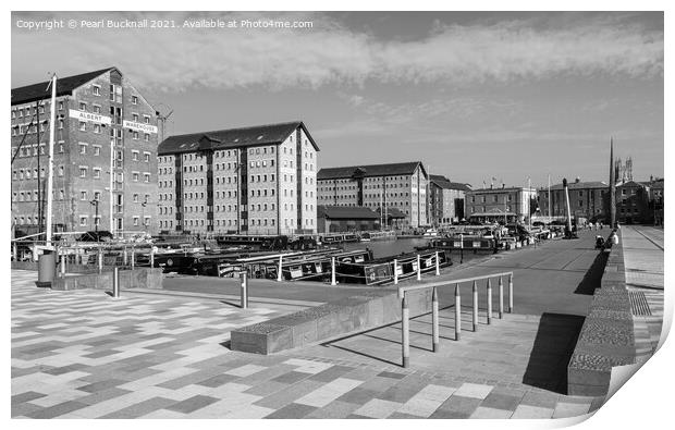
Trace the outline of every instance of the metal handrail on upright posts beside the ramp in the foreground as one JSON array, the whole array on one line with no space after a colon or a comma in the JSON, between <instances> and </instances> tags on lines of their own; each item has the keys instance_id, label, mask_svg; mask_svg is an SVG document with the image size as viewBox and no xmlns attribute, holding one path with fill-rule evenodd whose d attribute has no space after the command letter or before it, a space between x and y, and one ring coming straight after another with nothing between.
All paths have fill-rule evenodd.
<instances>
[{"instance_id":1,"label":"metal handrail on upright posts beside the ramp in the foreground","mask_svg":"<svg viewBox=\"0 0 675 430\"><path fill-rule=\"evenodd\" d=\"M499 278L499 318L504 317L504 282L508 278L508 314L513 314L513 272L491 273L481 277L464 278L451 281L431 282L428 284L406 285L398 287L398 298L401 298L401 344L402 344L402 365L410 365L410 309L406 293L412 291L431 288L431 346L434 353L440 351L439 335L439 296L438 288L442 286L455 285L455 341L459 341L462 334L462 292L461 284L471 282L472 293L472 331L478 331L478 282L487 280L486 295L488 302L487 323L492 323L492 283L491 280Z\"/></svg>"}]
</instances>

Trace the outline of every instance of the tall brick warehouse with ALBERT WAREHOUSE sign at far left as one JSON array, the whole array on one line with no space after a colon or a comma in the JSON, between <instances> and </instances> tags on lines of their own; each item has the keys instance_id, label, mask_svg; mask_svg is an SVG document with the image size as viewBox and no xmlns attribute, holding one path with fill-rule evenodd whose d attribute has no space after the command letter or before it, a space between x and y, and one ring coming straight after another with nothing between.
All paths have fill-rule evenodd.
<instances>
[{"instance_id":1,"label":"tall brick warehouse with ALBERT WAREHOUSE sign at far left","mask_svg":"<svg viewBox=\"0 0 675 430\"><path fill-rule=\"evenodd\" d=\"M12 89L12 157L29 128L12 162L12 217L17 230L39 229L38 194L44 195L46 189L49 156L48 84ZM99 230L113 233L154 232L158 144L155 109L115 67L58 78L56 109L54 232L95 230L97 223ZM46 208L44 196L40 202Z\"/></svg>"}]
</instances>

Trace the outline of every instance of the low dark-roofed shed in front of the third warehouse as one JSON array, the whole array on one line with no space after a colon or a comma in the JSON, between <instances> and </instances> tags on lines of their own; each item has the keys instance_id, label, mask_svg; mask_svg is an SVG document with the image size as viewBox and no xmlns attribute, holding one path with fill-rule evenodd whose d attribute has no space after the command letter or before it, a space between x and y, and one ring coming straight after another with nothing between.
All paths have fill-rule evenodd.
<instances>
[{"instance_id":1,"label":"low dark-roofed shed in front of the third warehouse","mask_svg":"<svg viewBox=\"0 0 675 430\"><path fill-rule=\"evenodd\" d=\"M380 214L364 207L319 206L317 232L356 232L380 230Z\"/></svg>"}]
</instances>

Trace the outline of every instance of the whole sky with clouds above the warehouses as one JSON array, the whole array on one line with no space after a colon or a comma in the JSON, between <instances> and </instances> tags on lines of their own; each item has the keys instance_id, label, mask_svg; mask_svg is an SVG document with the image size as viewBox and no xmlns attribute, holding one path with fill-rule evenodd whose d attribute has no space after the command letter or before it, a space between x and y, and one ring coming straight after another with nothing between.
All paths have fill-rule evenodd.
<instances>
[{"instance_id":1,"label":"whole sky with clouds above the warehouses","mask_svg":"<svg viewBox=\"0 0 675 430\"><path fill-rule=\"evenodd\" d=\"M170 28L83 28L165 20ZM26 23L75 20L76 28ZM200 20L236 28L195 28ZM311 28L242 28L242 22ZM149 21L148 21L149 23ZM168 134L302 120L319 167L419 160L481 187L664 173L663 14L21 12L12 87L116 66Z\"/></svg>"}]
</instances>

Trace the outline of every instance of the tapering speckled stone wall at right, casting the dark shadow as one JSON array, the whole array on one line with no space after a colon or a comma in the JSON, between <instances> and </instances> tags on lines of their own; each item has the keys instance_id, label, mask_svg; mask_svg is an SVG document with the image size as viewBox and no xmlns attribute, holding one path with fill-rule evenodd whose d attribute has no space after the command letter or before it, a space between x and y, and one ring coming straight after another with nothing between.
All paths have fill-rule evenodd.
<instances>
[{"instance_id":1,"label":"tapering speckled stone wall at right, casting the dark shadow","mask_svg":"<svg viewBox=\"0 0 675 430\"><path fill-rule=\"evenodd\" d=\"M635 363L635 333L624 253L613 246L567 367L567 394L606 395L612 367Z\"/></svg>"}]
</instances>

